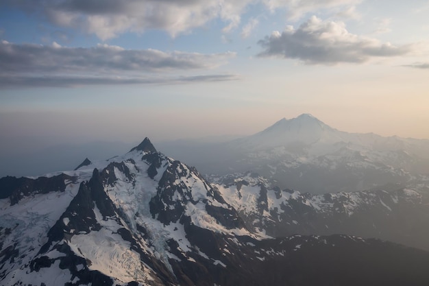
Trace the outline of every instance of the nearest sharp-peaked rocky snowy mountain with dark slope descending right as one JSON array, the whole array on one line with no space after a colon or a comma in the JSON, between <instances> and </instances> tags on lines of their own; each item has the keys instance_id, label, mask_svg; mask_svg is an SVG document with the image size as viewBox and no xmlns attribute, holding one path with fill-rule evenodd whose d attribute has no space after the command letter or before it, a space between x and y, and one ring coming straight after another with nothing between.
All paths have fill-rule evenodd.
<instances>
[{"instance_id":1,"label":"nearest sharp-peaked rocky snowy mountain with dark slope descending right","mask_svg":"<svg viewBox=\"0 0 429 286\"><path fill-rule=\"evenodd\" d=\"M429 281L428 252L348 235L273 238L226 195L149 139L74 171L1 178L0 285Z\"/></svg>"}]
</instances>

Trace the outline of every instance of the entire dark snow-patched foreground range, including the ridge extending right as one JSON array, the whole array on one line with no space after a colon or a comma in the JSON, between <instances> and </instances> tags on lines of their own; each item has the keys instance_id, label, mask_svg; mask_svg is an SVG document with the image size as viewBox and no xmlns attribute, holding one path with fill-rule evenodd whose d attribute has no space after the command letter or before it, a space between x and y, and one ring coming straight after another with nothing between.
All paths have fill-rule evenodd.
<instances>
[{"instance_id":1,"label":"entire dark snow-patched foreground range, including the ridge extending right","mask_svg":"<svg viewBox=\"0 0 429 286\"><path fill-rule=\"evenodd\" d=\"M429 282L429 212L419 191L311 195L255 174L209 179L147 138L73 171L1 178L0 284ZM392 217L403 220L395 231ZM391 231L404 235L389 240L408 246L371 238Z\"/></svg>"}]
</instances>

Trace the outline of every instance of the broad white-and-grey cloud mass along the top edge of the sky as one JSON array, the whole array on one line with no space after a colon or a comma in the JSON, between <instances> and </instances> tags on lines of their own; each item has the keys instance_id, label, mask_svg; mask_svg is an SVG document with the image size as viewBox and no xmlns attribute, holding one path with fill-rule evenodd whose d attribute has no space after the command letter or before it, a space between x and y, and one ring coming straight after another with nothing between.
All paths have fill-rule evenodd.
<instances>
[{"instance_id":1,"label":"broad white-and-grey cloud mass along the top edge of the sky","mask_svg":"<svg viewBox=\"0 0 429 286\"><path fill-rule=\"evenodd\" d=\"M36 14L59 27L80 29L101 40L125 32L142 33L162 29L171 36L190 32L196 27L220 19L223 32L230 32L241 23L249 7L262 4L267 10L286 9L289 19L316 10L348 7L362 0L2 0Z\"/></svg>"}]
</instances>

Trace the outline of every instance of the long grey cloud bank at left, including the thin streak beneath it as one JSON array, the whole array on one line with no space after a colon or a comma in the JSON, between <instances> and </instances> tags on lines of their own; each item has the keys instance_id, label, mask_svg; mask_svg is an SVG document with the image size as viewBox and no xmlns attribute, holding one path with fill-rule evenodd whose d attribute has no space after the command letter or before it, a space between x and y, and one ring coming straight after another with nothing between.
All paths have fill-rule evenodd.
<instances>
[{"instance_id":1,"label":"long grey cloud bank at left, including the thin streak beneath it","mask_svg":"<svg viewBox=\"0 0 429 286\"><path fill-rule=\"evenodd\" d=\"M228 62L235 53L166 53L156 49L123 49L112 45L97 47L62 47L52 45L17 45L0 43L0 86L45 86L76 84L154 83L156 75L173 82L191 82L195 77L169 78L169 73L184 75L186 71L208 70ZM211 77L211 78L210 78ZM192 80L191 80L192 79ZM221 80L220 75L208 75L201 80ZM230 80L227 75L225 80ZM10 84L8 84L10 82Z\"/></svg>"}]
</instances>

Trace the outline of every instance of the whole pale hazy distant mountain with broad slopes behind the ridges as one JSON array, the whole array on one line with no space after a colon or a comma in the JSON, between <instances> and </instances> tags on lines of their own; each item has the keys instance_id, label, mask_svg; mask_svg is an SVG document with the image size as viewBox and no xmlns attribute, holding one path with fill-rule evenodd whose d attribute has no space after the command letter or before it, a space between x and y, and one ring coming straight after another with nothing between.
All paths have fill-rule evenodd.
<instances>
[{"instance_id":1,"label":"whole pale hazy distant mountain with broad slopes behind the ridges","mask_svg":"<svg viewBox=\"0 0 429 286\"><path fill-rule=\"evenodd\" d=\"M336 130L312 115L218 144L164 145L205 174L255 171L286 189L363 191L428 180L429 140Z\"/></svg>"}]
</instances>

